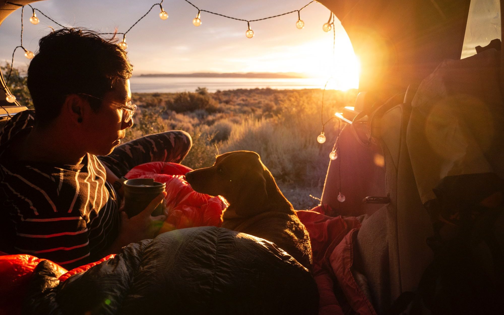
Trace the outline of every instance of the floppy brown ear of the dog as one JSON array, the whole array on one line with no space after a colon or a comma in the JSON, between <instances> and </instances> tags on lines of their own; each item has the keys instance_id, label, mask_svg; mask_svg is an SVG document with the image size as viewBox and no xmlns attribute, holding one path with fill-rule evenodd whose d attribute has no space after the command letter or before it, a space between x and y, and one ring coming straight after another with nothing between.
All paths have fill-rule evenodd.
<instances>
[{"instance_id":1,"label":"floppy brown ear of the dog","mask_svg":"<svg viewBox=\"0 0 504 315\"><path fill-rule=\"evenodd\" d=\"M250 172L240 191L243 193L234 207L240 217L250 217L266 210L264 205L268 200L266 179L263 170Z\"/></svg>"}]
</instances>

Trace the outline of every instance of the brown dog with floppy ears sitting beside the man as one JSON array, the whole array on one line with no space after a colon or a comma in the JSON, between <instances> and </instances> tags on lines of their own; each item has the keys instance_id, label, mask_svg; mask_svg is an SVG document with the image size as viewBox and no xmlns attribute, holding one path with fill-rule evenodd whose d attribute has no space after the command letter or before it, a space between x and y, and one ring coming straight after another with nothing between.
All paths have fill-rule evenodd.
<instances>
[{"instance_id":1,"label":"brown dog with floppy ears sitting beside the man","mask_svg":"<svg viewBox=\"0 0 504 315\"><path fill-rule=\"evenodd\" d=\"M308 231L259 154L224 153L217 156L213 166L188 172L185 178L195 191L227 199L229 207L222 214L222 227L274 242L310 270Z\"/></svg>"}]
</instances>

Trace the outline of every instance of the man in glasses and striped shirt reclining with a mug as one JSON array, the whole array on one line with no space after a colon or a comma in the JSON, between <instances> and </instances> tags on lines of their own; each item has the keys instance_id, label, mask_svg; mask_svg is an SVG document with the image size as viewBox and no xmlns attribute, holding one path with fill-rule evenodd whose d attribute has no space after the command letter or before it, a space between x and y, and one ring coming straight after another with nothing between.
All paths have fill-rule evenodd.
<instances>
[{"instance_id":1,"label":"man in glasses and striped shirt reclining with a mug","mask_svg":"<svg viewBox=\"0 0 504 315\"><path fill-rule=\"evenodd\" d=\"M92 31L40 39L28 68L35 111L0 132L1 251L69 269L154 236L166 213L151 213L166 193L128 219L119 211L119 177L145 162L180 162L192 142L172 131L119 146L136 109L132 71L125 51Z\"/></svg>"}]
</instances>

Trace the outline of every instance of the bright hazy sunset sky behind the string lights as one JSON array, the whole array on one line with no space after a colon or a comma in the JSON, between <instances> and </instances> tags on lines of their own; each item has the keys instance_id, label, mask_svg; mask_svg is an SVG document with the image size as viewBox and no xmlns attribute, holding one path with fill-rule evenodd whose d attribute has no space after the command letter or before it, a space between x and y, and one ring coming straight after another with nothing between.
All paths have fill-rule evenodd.
<instances>
[{"instance_id":1,"label":"bright hazy sunset sky behind the string lights","mask_svg":"<svg viewBox=\"0 0 504 315\"><path fill-rule=\"evenodd\" d=\"M190 0L191 1L191 0ZM254 0L192 0L201 10L254 20L302 8L309 0L288 2ZM155 1L146 0L46 0L32 6L65 26L77 26L100 32L126 31ZM85 4L85 5L83 5ZM198 10L184 0L163 2L167 20L159 18L154 7L127 35L128 55L135 66L134 75L148 73L193 72L297 72L310 77L329 78L343 88L358 85L358 60L338 20L333 32L324 32L330 11L313 2L300 12L305 27L295 27L297 13L251 22L255 36L245 37L247 24L206 12L202 25L192 23ZM38 39L47 34L53 22L37 14L38 25L29 22L31 9L25 8L23 44L37 50ZM21 10L11 14L0 26L0 60L10 63L13 49L19 45ZM29 60L21 49L15 54L15 67L26 67Z\"/></svg>"}]
</instances>

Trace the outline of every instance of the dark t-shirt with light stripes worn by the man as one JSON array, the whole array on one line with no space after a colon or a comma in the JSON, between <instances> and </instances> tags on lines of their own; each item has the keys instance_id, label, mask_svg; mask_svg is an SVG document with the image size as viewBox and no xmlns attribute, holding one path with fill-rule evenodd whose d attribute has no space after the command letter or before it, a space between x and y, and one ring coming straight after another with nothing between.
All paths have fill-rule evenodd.
<instances>
[{"instance_id":1,"label":"dark t-shirt with light stripes worn by the man","mask_svg":"<svg viewBox=\"0 0 504 315\"><path fill-rule=\"evenodd\" d=\"M105 168L87 154L79 165L19 161L10 144L30 132L34 111L0 131L0 250L73 268L102 258L117 237L119 214Z\"/></svg>"}]
</instances>

